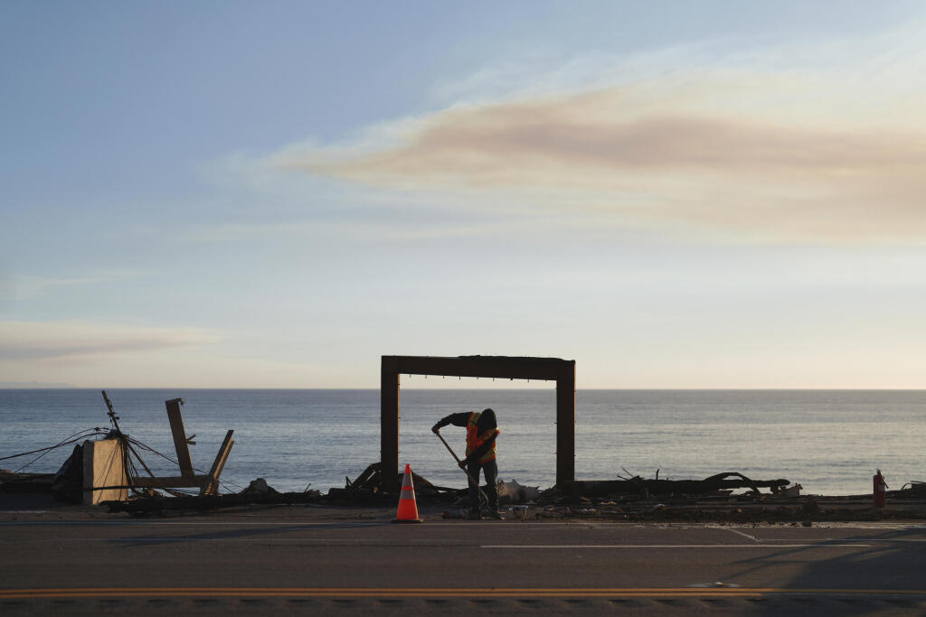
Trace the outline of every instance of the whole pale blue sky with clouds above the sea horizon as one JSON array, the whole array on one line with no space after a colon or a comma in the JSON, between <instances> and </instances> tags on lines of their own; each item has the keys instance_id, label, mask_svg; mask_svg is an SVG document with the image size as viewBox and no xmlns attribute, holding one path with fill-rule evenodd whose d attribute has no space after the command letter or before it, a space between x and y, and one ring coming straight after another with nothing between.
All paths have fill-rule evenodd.
<instances>
[{"instance_id":1,"label":"whole pale blue sky with clouds above the sea horizon","mask_svg":"<svg viewBox=\"0 0 926 617\"><path fill-rule=\"evenodd\" d=\"M0 387L926 388L924 42L902 0L0 3Z\"/></svg>"}]
</instances>

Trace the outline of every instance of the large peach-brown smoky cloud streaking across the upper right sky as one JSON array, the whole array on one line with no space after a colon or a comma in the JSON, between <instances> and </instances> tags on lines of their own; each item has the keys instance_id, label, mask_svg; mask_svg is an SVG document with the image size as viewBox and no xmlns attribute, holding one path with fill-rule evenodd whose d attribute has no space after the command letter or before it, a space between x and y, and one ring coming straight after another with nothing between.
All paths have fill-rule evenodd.
<instances>
[{"instance_id":1,"label":"large peach-brown smoky cloud streaking across the upper right sky","mask_svg":"<svg viewBox=\"0 0 926 617\"><path fill-rule=\"evenodd\" d=\"M831 44L817 68L797 66L806 48L665 74L637 66L619 85L451 105L350 143L294 144L272 164L595 224L920 242L926 54L909 36L863 45L868 58ZM872 52L892 44L902 61Z\"/></svg>"}]
</instances>

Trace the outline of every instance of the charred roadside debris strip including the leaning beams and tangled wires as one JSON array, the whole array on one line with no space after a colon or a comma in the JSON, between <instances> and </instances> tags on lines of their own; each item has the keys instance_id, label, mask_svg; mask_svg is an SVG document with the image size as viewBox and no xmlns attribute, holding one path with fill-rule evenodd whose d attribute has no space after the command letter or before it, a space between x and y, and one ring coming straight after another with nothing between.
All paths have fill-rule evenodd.
<instances>
[{"instance_id":1,"label":"charred roadside debris strip including the leaning beams and tangled wires","mask_svg":"<svg viewBox=\"0 0 926 617\"><path fill-rule=\"evenodd\" d=\"M397 497L395 491L386 488L398 486L402 474L390 473L387 471L390 465L384 466L382 462L369 464L353 480L345 477L343 488L331 488L327 494L308 487L301 492L280 492L257 478L239 492L219 495L220 475L234 444L232 430L205 472L194 468L190 456L189 445L195 443L195 436L186 435L181 399L165 401L177 455L172 459L123 433L105 390L103 398L110 421L108 429L94 427L48 448L3 457L0 461L31 455L35 457L31 460L34 463L56 449L72 448L56 474L19 473L30 463L17 472L0 470L0 492L47 493L58 500L105 503L110 512L133 515L202 512L247 505L385 506L393 504ZM141 452L169 460L177 465L179 474L156 475L144 462ZM807 497L801 495L800 485L789 486L791 483L784 478L757 480L739 472L724 472L703 479L668 480L660 479L658 472L654 478L632 475L626 470L624 474L614 480L566 480L545 490L522 486L516 480L503 481L498 483L499 505L509 508L515 519L586 516L627 521L804 523L877 520L902 512L905 504L913 504L912 516L917 517L919 511L914 506L926 498L926 483L911 482L900 490L884 493L901 510L879 513L871 512L871 495ZM464 505L468 496L466 487L441 487L420 475L411 473L411 476L416 496L425 507L431 504L444 509L447 505ZM197 494L184 492L182 488L193 488ZM444 512L450 518L455 517L451 510Z\"/></svg>"}]
</instances>

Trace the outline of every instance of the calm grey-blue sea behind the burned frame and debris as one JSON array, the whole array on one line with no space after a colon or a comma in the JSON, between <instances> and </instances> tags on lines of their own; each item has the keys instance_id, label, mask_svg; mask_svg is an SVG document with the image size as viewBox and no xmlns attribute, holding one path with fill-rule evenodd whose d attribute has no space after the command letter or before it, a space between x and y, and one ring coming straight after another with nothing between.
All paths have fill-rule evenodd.
<instances>
[{"instance_id":1,"label":"calm grey-blue sea behind the burned frame and debris","mask_svg":"<svg viewBox=\"0 0 926 617\"><path fill-rule=\"evenodd\" d=\"M278 490L343 487L380 459L380 393L355 390L111 389L125 433L175 458L164 401L182 397L194 466L207 470L225 431L235 445L225 490L264 477ZM492 407L498 414L499 474L523 485L556 482L554 389L403 389L400 463L434 484L464 487L431 426L447 413ZM576 477L632 474L703 478L740 472L788 478L805 492L870 492L880 467L892 488L926 480L926 391L580 390ZM0 457L53 445L82 429L108 427L98 390L0 390ZM464 429L442 430L457 453ZM24 471L54 472L70 448ZM0 462L18 469L34 456ZM147 453L159 475L172 464Z\"/></svg>"}]
</instances>

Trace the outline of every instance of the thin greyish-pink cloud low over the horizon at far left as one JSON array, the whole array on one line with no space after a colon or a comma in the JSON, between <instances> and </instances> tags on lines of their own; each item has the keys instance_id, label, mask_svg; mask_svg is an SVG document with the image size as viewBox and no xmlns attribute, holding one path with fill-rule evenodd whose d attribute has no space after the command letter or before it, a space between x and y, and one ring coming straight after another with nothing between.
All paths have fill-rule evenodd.
<instances>
[{"instance_id":1,"label":"thin greyish-pink cloud low over the horizon at far left","mask_svg":"<svg viewBox=\"0 0 926 617\"><path fill-rule=\"evenodd\" d=\"M0 322L0 361L118 358L218 340L216 333L199 328L4 321Z\"/></svg>"}]
</instances>

